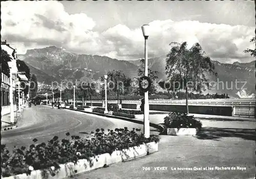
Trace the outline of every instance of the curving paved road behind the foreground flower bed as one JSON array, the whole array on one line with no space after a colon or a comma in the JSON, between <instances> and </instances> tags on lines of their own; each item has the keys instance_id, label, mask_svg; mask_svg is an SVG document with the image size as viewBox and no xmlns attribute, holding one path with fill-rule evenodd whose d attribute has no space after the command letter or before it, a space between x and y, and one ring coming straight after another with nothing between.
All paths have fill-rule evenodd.
<instances>
[{"instance_id":1,"label":"curving paved road behind the foreground flower bed","mask_svg":"<svg viewBox=\"0 0 256 179\"><path fill-rule=\"evenodd\" d=\"M90 133L97 128L115 129L116 127L143 129L141 124L69 109L52 109L51 106L37 105L25 108L16 129L2 131L2 144L6 144L8 148L12 148L14 145L28 147L33 143L34 138L38 142L47 142L54 136L65 138L66 132L70 132L71 135L87 136L79 132ZM151 129L155 130L153 127Z\"/></svg>"}]
</instances>

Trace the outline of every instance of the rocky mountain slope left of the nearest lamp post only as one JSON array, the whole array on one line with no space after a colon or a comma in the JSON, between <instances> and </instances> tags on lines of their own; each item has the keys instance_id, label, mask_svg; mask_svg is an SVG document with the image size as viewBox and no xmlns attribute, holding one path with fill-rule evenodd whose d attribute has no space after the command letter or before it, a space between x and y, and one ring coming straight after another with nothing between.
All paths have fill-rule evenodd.
<instances>
[{"instance_id":1,"label":"rocky mountain slope left of the nearest lamp post only","mask_svg":"<svg viewBox=\"0 0 256 179\"><path fill-rule=\"evenodd\" d=\"M20 55L20 59L34 68L62 80L79 80L88 76L88 72L93 75L93 78L98 79L110 70L122 70L125 75L135 77L138 69L129 61L99 55L70 53L55 46L27 50L25 55Z\"/></svg>"}]
</instances>

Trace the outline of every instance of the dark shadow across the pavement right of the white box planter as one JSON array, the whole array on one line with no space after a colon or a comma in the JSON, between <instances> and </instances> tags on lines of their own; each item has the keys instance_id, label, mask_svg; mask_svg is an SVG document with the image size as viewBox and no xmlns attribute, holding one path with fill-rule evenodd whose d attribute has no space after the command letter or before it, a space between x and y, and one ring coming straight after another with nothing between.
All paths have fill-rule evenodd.
<instances>
[{"instance_id":1,"label":"dark shadow across the pavement right of the white box planter","mask_svg":"<svg viewBox=\"0 0 256 179\"><path fill-rule=\"evenodd\" d=\"M198 139L208 140L216 140L222 137L235 137L254 141L255 129L204 127L196 136Z\"/></svg>"}]
</instances>

